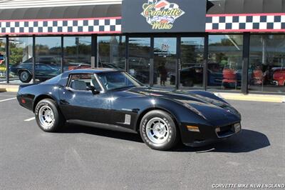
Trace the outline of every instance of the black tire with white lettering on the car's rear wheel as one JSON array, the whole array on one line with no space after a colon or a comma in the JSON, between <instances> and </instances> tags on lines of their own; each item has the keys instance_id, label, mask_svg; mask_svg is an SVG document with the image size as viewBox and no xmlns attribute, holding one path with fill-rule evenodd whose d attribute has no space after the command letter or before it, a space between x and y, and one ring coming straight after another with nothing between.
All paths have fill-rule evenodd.
<instances>
[{"instance_id":1,"label":"black tire with white lettering on the car's rear wheel","mask_svg":"<svg viewBox=\"0 0 285 190\"><path fill-rule=\"evenodd\" d=\"M51 116L44 117L46 115L46 111L52 111L53 119L50 119ZM44 112L43 112L44 111ZM44 113L44 114L43 114ZM56 132L60 131L61 128L65 124L65 119L61 114L61 111L58 110L58 106L56 106L56 102L52 99L43 99L38 102L35 109L36 123L38 126L46 132ZM44 119L43 119L44 118ZM44 121L46 120L46 121ZM51 120L51 121L50 121ZM44 125L44 124L48 125Z\"/></svg>"}]
</instances>

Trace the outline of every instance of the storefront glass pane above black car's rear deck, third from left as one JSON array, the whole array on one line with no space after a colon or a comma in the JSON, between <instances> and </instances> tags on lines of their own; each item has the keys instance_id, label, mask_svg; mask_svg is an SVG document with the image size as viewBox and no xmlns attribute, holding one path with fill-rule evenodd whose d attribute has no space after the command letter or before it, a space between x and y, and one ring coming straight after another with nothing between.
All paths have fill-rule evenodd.
<instances>
[{"instance_id":1,"label":"storefront glass pane above black car's rear deck, third from left","mask_svg":"<svg viewBox=\"0 0 285 190\"><path fill-rule=\"evenodd\" d=\"M35 69L38 81L61 74L61 37L36 37Z\"/></svg>"}]
</instances>

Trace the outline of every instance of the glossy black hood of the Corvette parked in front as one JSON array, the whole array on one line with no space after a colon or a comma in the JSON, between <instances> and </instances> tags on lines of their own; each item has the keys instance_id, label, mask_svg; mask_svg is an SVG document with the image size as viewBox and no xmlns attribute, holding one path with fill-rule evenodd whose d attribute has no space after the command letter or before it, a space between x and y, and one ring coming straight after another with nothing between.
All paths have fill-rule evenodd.
<instances>
[{"instance_id":1,"label":"glossy black hood of the Corvette parked in front","mask_svg":"<svg viewBox=\"0 0 285 190\"><path fill-rule=\"evenodd\" d=\"M231 105L217 99L195 94L194 92L191 93L191 91L170 91L154 88L133 88L128 91L155 98L170 99L186 106L191 111L204 117L204 119L211 121L222 122L225 118L231 121L241 119L239 112Z\"/></svg>"}]
</instances>

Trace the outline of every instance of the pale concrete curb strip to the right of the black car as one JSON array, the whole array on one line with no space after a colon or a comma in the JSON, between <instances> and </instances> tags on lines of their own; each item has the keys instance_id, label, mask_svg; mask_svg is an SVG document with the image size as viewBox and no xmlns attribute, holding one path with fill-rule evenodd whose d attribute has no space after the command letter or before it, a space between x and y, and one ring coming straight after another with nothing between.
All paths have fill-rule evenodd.
<instances>
[{"instance_id":1,"label":"pale concrete curb strip to the right of the black car","mask_svg":"<svg viewBox=\"0 0 285 190\"><path fill-rule=\"evenodd\" d=\"M234 94L234 93L214 93L222 99L242 100L242 101L266 101L275 103L285 103L285 96L270 94Z\"/></svg>"}]
</instances>

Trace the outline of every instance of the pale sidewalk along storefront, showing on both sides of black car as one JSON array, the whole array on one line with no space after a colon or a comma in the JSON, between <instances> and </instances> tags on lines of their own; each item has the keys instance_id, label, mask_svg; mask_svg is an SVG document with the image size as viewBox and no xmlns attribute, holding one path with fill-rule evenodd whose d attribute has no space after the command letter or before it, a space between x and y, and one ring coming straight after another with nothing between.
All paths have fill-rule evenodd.
<instances>
[{"instance_id":1,"label":"pale sidewalk along storefront, showing on both sides of black car","mask_svg":"<svg viewBox=\"0 0 285 190\"><path fill-rule=\"evenodd\" d=\"M19 89L18 85L0 84L0 91L17 92L18 89ZM214 94L216 96L219 96L222 99L229 99L229 100L266 101L266 102L285 103L285 96L281 96L281 95L270 95L270 94L244 95L244 94L239 94L239 93L224 93L224 92L217 92Z\"/></svg>"}]
</instances>

